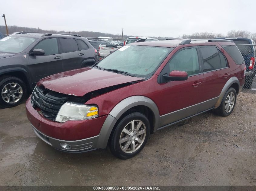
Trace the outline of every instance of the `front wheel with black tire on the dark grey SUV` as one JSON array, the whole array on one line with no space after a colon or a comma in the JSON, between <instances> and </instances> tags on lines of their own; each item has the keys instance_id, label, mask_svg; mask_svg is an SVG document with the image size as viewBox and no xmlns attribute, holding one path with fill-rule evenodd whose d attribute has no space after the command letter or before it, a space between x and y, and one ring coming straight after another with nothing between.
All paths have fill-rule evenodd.
<instances>
[{"instance_id":1,"label":"front wheel with black tire on the dark grey SUV","mask_svg":"<svg viewBox=\"0 0 256 191\"><path fill-rule=\"evenodd\" d=\"M26 96L26 85L17 77L4 76L0 78L0 107L14 107L19 105Z\"/></svg>"}]
</instances>

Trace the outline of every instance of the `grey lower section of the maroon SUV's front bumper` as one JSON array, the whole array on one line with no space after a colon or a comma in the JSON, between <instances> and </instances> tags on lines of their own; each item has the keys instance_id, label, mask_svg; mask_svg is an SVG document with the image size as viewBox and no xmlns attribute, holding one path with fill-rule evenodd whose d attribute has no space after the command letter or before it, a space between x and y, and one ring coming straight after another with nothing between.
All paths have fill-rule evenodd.
<instances>
[{"instance_id":1,"label":"grey lower section of the maroon SUV's front bumper","mask_svg":"<svg viewBox=\"0 0 256 191\"><path fill-rule=\"evenodd\" d=\"M31 124L32 125L32 124ZM65 152L85 152L85 151L92 151L97 148L95 148L95 143L98 140L99 135L91 138L85 138L82 140L77 141L65 141L60 140L56 138L49 137L42 132L38 131L33 125L32 125L35 134L41 138L44 142L46 142L48 145L51 145L53 148L65 151ZM66 143L70 146L69 149L61 147L61 143Z\"/></svg>"}]
</instances>

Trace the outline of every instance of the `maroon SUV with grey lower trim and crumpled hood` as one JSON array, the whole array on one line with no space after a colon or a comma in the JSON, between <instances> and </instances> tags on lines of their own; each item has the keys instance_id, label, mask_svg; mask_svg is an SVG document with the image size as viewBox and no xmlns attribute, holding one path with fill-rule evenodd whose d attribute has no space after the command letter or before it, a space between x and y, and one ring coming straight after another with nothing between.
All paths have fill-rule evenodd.
<instances>
[{"instance_id":1,"label":"maroon SUV with grey lower trim and crumpled hood","mask_svg":"<svg viewBox=\"0 0 256 191\"><path fill-rule=\"evenodd\" d=\"M159 129L211 109L230 115L244 76L243 57L230 40L131 43L92 67L39 81L27 116L39 138L58 150L109 146L126 159Z\"/></svg>"}]
</instances>

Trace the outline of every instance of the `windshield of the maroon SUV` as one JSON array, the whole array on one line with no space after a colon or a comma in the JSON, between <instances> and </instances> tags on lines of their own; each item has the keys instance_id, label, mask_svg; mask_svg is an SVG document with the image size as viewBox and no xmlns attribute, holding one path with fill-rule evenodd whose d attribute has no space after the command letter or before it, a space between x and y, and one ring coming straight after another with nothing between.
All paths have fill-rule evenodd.
<instances>
[{"instance_id":1,"label":"windshield of the maroon SUV","mask_svg":"<svg viewBox=\"0 0 256 191\"><path fill-rule=\"evenodd\" d=\"M98 66L150 78L173 48L126 45L102 59Z\"/></svg>"}]
</instances>

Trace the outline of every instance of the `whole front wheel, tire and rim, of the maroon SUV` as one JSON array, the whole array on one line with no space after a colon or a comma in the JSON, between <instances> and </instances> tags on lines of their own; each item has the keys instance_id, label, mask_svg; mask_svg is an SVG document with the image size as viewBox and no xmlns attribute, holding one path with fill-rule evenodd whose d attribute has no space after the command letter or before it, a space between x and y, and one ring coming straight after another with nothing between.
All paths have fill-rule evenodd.
<instances>
[{"instance_id":1,"label":"whole front wheel, tire and rim, of the maroon SUV","mask_svg":"<svg viewBox=\"0 0 256 191\"><path fill-rule=\"evenodd\" d=\"M130 113L117 124L110 139L110 151L121 159L134 157L144 148L149 134L148 118L139 112Z\"/></svg>"}]
</instances>

